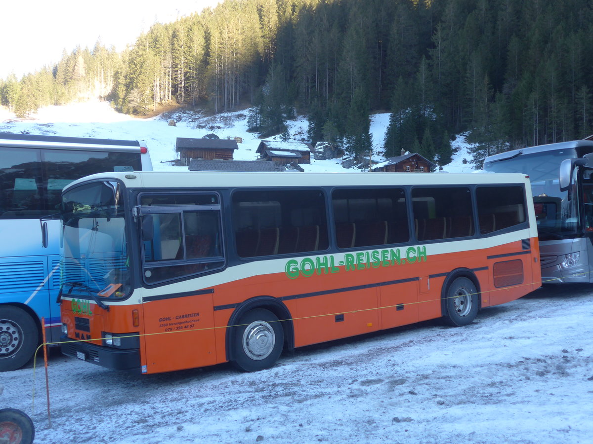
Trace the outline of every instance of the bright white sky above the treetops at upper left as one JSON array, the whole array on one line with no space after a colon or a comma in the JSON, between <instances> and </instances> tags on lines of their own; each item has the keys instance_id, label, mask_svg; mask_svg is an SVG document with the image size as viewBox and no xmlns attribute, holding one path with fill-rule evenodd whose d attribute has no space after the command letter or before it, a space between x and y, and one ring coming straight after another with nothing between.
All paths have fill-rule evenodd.
<instances>
[{"instance_id":1,"label":"bright white sky above the treetops at upper left","mask_svg":"<svg viewBox=\"0 0 593 444\"><path fill-rule=\"evenodd\" d=\"M64 49L93 49L98 38L121 51L154 22L171 22L220 0L21 1L2 2L0 79L53 65Z\"/></svg>"}]
</instances>

